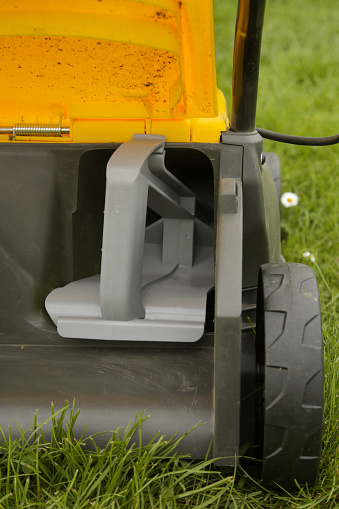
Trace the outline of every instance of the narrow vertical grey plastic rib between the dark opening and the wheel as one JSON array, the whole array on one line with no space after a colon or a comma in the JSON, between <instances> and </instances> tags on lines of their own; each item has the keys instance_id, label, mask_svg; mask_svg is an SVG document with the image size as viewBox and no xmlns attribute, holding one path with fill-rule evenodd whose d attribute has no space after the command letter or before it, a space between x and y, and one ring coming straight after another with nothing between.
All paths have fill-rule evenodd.
<instances>
[{"instance_id":1,"label":"narrow vertical grey plastic rib between the dark opening and the wheel","mask_svg":"<svg viewBox=\"0 0 339 509\"><path fill-rule=\"evenodd\" d=\"M242 294L242 184L220 178L215 262L213 456L234 464L239 454Z\"/></svg>"}]
</instances>

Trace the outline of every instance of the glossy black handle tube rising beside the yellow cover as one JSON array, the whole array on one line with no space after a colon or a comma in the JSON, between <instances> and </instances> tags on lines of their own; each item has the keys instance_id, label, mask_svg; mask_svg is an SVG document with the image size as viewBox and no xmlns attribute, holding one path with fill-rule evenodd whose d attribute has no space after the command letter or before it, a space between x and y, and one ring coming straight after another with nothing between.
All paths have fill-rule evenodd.
<instances>
[{"instance_id":1,"label":"glossy black handle tube rising beside the yellow cover","mask_svg":"<svg viewBox=\"0 0 339 509\"><path fill-rule=\"evenodd\" d=\"M230 129L255 131L266 0L239 0L234 38Z\"/></svg>"}]
</instances>

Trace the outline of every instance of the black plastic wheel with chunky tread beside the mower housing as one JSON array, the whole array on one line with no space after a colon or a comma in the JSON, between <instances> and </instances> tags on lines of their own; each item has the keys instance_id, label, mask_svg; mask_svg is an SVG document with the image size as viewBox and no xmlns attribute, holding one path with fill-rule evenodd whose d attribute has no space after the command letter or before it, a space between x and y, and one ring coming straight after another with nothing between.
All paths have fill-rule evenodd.
<instances>
[{"instance_id":1,"label":"black plastic wheel with chunky tread beside the mower housing","mask_svg":"<svg viewBox=\"0 0 339 509\"><path fill-rule=\"evenodd\" d=\"M311 267L261 267L256 355L263 481L290 490L295 480L313 484L322 443L323 346Z\"/></svg>"}]
</instances>

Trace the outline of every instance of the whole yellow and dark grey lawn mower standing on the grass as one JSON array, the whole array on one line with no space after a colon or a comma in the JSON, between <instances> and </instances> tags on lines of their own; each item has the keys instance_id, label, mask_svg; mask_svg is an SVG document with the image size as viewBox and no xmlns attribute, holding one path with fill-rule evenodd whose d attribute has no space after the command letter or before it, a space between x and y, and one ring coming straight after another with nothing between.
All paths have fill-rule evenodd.
<instances>
[{"instance_id":1,"label":"whole yellow and dark grey lawn mower standing on the grass","mask_svg":"<svg viewBox=\"0 0 339 509\"><path fill-rule=\"evenodd\" d=\"M211 1L1 3L5 434L51 402L75 400L79 436L145 410L144 441L201 422L178 453L315 481L320 304L281 256L256 130L264 9L239 1L228 121Z\"/></svg>"}]
</instances>

